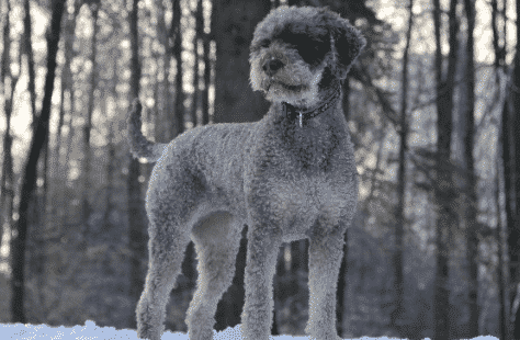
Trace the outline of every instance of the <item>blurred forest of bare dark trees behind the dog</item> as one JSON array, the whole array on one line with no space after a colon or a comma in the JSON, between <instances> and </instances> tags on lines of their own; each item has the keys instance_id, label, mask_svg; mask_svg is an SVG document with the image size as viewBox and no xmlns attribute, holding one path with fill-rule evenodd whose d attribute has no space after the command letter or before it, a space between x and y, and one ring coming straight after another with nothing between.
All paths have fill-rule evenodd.
<instances>
[{"instance_id":1,"label":"blurred forest of bare dark trees behind the dog","mask_svg":"<svg viewBox=\"0 0 520 340\"><path fill-rule=\"evenodd\" d=\"M0 0L0 322L135 328L151 165L167 141L258 121L256 24L328 5L368 46L343 84L361 185L338 283L342 337L520 338L520 0ZM216 329L240 322L246 239ZM284 245L273 335L308 316L306 240ZM185 331L193 246L166 326Z\"/></svg>"}]
</instances>

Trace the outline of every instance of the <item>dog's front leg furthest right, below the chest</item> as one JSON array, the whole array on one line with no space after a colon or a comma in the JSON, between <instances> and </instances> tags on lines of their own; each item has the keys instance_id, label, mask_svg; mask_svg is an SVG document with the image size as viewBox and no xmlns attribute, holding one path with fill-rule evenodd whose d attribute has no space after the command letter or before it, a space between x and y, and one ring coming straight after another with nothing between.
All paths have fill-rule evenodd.
<instances>
[{"instance_id":1,"label":"dog's front leg furthest right, below the chest","mask_svg":"<svg viewBox=\"0 0 520 340\"><path fill-rule=\"evenodd\" d=\"M336 330L336 288L343 254L342 228L321 226L309 240L309 313L305 332L313 340L340 340Z\"/></svg>"}]
</instances>

